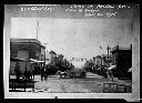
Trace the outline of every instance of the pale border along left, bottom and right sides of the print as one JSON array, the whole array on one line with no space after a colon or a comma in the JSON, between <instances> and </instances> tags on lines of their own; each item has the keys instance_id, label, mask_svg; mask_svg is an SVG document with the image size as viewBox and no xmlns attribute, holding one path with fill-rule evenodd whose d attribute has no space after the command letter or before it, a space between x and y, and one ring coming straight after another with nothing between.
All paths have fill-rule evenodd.
<instances>
[{"instance_id":1,"label":"pale border along left, bottom and right sides of the print","mask_svg":"<svg viewBox=\"0 0 142 103\"><path fill-rule=\"evenodd\" d=\"M11 18L20 18L16 11L9 12L7 6L4 7L4 32L3 32L3 82L4 82L4 99L125 99L129 101L138 101L140 97L140 32L133 38L133 82L132 93L17 93L9 92L9 65L10 65L10 22ZM24 17L24 16L23 16ZM31 18L31 17L30 17ZM44 17L45 18L45 17ZM139 24L139 23L138 23ZM138 25L140 28L140 25ZM136 32L136 31L135 31ZM133 33L135 33L133 32ZM138 62L135 62L138 61Z\"/></svg>"}]
</instances>

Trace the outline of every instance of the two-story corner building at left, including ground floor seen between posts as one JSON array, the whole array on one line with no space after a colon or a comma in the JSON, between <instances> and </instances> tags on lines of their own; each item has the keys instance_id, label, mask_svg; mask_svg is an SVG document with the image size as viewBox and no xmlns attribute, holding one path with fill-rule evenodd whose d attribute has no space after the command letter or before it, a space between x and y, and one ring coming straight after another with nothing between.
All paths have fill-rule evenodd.
<instances>
[{"instance_id":1,"label":"two-story corner building at left, including ground floor seen between posts","mask_svg":"<svg viewBox=\"0 0 142 103\"><path fill-rule=\"evenodd\" d=\"M44 47L37 39L10 39L10 56L23 60L44 61ZM19 69L26 71L26 62L18 62ZM14 73L16 62L10 61L10 73ZM28 71L34 71L33 64L27 64Z\"/></svg>"}]
</instances>

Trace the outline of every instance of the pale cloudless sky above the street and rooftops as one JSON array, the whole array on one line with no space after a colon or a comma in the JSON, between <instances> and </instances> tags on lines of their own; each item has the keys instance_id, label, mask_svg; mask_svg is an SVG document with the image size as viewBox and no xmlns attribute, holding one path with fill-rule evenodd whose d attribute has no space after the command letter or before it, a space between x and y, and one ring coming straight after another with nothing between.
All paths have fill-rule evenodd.
<instances>
[{"instance_id":1,"label":"pale cloudless sky above the street and rooftops","mask_svg":"<svg viewBox=\"0 0 142 103\"><path fill-rule=\"evenodd\" d=\"M63 8L59 7L58 11L52 13L55 18L52 14L34 18L33 14L37 13L31 12L32 18L11 18L10 37L36 39L39 21L38 40L48 43L48 51L53 50L67 59L92 59L106 54L108 45L129 48L132 44L132 18L128 18L132 12L120 10L120 18L77 18L80 17L78 13L64 13ZM23 13L20 12L19 16L21 14Z\"/></svg>"}]
</instances>

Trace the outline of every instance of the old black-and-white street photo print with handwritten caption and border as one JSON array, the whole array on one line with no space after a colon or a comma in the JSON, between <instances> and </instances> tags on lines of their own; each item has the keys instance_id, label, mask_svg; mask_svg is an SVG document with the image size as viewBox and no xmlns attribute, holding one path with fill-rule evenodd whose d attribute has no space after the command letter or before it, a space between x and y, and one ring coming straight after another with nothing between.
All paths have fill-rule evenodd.
<instances>
[{"instance_id":1,"label":"old black-and-white street photo print with handwritten caption and border","mask_svg":"<svg viewBox=\"0 0 142 103\"><path fill-rule=\"evenodd\" d=\"M140 96L139 4L6 4L4 96Z\"/></svg>"}]
</instances>

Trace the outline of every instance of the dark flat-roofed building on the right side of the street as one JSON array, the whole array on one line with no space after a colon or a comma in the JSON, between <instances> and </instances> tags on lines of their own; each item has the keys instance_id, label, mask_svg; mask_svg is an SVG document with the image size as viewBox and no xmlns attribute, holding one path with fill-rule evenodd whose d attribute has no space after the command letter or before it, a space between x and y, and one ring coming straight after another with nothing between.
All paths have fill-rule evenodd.
<instances>
[{"instance_id":1,"label":"dark flat-roofed building on the right side of the street","mask_svg":"<svg viewBox=\"0 0 142 103\"><path fill-rule=\"evenodd\" d=\"M111 51L112 64L116 65L113 70L114 76L131 78L128 70L132 68L132 44L130 48L114 47Z\"/></svg>"}]
</instances>

